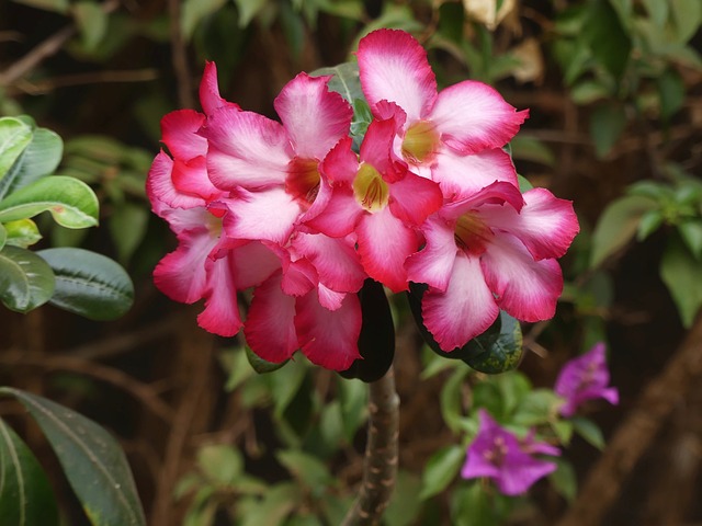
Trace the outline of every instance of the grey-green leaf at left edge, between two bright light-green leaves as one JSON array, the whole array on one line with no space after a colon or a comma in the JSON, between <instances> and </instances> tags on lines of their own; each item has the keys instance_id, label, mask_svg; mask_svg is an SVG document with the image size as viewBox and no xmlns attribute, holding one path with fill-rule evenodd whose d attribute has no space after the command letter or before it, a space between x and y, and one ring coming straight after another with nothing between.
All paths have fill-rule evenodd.
<instances>
[{"instance_id":1,"label":"grey-green leaf at left edge, between two bright light-green leaves","mask_svg":"<svg viewBox=\"0 0 702 526\"><path fill-rule=\"evenodd\" d=\"M50 129L35 128L32 141L7 175L0 179L0 199L22 186L54 173L63 153L64 141L57 134Z\"/></svg>"}]
</instances>

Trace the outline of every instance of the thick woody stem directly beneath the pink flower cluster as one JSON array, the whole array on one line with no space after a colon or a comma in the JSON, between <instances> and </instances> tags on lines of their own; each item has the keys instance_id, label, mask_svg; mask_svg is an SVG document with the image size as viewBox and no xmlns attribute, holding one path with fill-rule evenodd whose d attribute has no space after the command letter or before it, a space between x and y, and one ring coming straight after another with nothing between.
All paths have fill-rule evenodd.
<instances>
[{"instance_id":1,"label":"thick woody stem directly beneath the pink flower cluster","mask_svg":"<svg viewBox=\"0 0 702 526\"><path fill-rule=\"evenodd\" d=\"M399 397L395 390L392 367L383 378L370 384L369 410L363 481L342 526L378 524L395 488Z\"/></svg>"}]
</instances>

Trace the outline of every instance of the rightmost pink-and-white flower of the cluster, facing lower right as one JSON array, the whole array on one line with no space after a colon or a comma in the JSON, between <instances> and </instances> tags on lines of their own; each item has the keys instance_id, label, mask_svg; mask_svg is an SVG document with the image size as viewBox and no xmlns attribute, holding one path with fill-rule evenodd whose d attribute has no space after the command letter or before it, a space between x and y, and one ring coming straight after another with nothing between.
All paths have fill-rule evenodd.
<instances>
[{"instance_id":1,"label":"rightmost pink-and-white flower of the cluster, facing lower right","mask_svg":"<svg viewBox=\"0 0 702 526\"><path fill-rule=\"evenodd\" d=\"M465 345L502 309L522 321L553 317L561 258L578 232L570 202L495 182L446 203L420 227L426 245L406 263L426 283L422 319L442 350Z\"/></svg>"}]
</instances>

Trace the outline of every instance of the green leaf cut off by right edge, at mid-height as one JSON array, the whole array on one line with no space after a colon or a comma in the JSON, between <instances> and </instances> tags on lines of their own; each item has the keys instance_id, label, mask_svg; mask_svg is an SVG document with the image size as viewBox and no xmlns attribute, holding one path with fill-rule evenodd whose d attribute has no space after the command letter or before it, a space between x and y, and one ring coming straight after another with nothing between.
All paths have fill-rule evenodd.
<instances>
[{"instance_id":1,"label":"green leaf cut off by right edge, at mid-height","mask_svg":"<svg viewBox=\"0 0 702 526\"><path fill-rule=\"evenodd\" d=\"M682 324L690 328L702 307L702 265L673 236L660 259L660 277L678 307Z\"/></svg>"}]
</instances>

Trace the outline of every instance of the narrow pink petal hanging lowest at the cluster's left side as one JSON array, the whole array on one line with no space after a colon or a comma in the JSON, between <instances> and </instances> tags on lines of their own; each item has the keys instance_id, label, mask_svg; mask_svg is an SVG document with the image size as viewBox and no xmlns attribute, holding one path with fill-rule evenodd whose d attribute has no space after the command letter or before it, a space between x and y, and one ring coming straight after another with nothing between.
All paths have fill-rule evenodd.
<instances>
[{"instance_id":1,"label":"narrow pink petal hanging lowest at the cluster's left side","mask_svg":"<svg viewBox=\"0 0 702 526\"><path fill-rule=\"evenodd\" d=\"M225 338L234 336L242 327L230 258L210 260L205 309L197 316L200 327Z\"/></svg>"}]
</instances>

